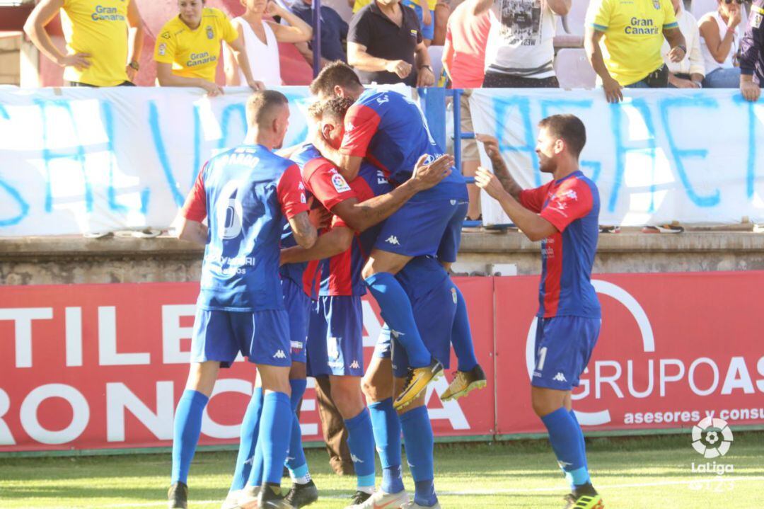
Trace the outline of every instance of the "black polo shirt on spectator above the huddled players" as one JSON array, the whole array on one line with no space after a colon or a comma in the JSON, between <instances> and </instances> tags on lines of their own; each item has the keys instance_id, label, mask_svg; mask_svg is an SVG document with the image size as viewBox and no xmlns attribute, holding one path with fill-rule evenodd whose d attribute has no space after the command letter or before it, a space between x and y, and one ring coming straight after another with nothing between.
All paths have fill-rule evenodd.
<instances>
[{"instance_id":1,"label":"black polo shirt on spectator above the huddled players","mask_svg":"<svg viewBox=\"0 0 764 509\"><path fill-rule=\"evenodd\" d=\"M401 5L403 23L399 27L393 20L387 18L377 2L358 11L350 21L348 42L362 44L372 57L385 60L403 60L411 64L412 69L406 79L400 79L396 73L387 71L367 72L356 70L361 83L377 82L380 84L405 83L416 86L416 45L422 42L419 31L419 18L413 8Z\"/></svg>"}]
</instances>

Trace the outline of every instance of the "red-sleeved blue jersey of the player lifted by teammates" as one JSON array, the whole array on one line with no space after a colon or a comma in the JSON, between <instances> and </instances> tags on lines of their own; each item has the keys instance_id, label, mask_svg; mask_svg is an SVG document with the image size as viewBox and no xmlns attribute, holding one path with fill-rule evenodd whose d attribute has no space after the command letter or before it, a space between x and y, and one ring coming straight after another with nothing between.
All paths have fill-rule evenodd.
<instances>
[{"instance_id":1,"label":"red-sleeved blue jersey of the player lifted by teammates","mask_svg":"<svg viewBox=\"0 0 764 509\"><path fill-rule=\"evenodd\" d=\"M403 94L387 89L367 89L351 105L339 150L365 157L398 184L411 178L419 157L427 154L427 162L432 162L443 154L429 133L422 110ZM464 179L453 170L432 192L449 183L464 185Z\"/></svg>"}]
</instances>

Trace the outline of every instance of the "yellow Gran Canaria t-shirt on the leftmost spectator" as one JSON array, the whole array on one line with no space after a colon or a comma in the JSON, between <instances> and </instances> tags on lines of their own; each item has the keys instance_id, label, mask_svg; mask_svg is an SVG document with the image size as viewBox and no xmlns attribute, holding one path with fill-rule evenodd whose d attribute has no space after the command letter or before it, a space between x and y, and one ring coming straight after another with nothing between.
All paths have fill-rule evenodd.
<instances>
[{"instance_id":1,"label":"yellow Gran Canaria t-shirt on the leftmost spectator","mask_svg":"<svg viewBox=\"0 0 764 509\"><path fill-rule=\"evenodd\" d=\"M66 67L63 79L95 86L128 80L128 3L131 0L64 0L61 28L69 53L89 53L86 70Z\"/></svg>"}]
</instances>

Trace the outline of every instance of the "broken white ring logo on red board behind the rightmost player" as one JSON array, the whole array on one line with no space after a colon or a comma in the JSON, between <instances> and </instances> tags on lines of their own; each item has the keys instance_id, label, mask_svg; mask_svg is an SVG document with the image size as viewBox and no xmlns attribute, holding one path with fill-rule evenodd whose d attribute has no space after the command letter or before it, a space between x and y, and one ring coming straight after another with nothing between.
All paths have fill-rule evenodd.
<instances>
[{"instance_id":1,"label":"broken white ring logo on red board behind the rightmost player","mask_svg":"<svg viewBox=\"0 0 764 509\"><path fill-rule=\"evenodd\" d=\"M642 306L631 296L629 292L623 290L623 288L608 283L602 280L592 280L591 284L594 286L594 290L597 293L602 293L608 297L622 303L623 306L629 310L629 313L636 320L636 325L639 326L639 332L642 335L642 345L645 352L656 351L656 339L652 336L652 326L650 320L647 318L647 313L643 310ZM536 365L536 352L534 346L536 345L536 318L531 322L530 330L528 331L528 339L526 341L526 366L528 368L528 376L533 379L533 368ZM612 418L610 417L610 410L602 410L600 412L581 412L575 411L578 422L584 426L601 426L602 424L609 423Z\"/></svg>"}]
</instances>

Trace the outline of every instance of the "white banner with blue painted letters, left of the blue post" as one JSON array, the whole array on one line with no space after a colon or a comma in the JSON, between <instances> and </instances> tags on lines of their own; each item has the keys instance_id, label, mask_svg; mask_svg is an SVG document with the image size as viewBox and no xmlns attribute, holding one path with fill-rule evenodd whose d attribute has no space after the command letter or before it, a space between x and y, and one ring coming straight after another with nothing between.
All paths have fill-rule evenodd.
<instances>
[{"instance_id":1,"label":"white banner with blue painted letters, left of the blue post","mask_svg":"<svg viewBox=\"0 0 764 509\"><path fill-rule=\"evenodd\" d=\"M285 145L307 135L306 87L283 87ZM0 89L0 236L167 229L199 168L240 144L250 89Z\"/></svg>"}]
</instances>

